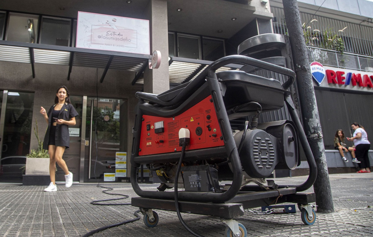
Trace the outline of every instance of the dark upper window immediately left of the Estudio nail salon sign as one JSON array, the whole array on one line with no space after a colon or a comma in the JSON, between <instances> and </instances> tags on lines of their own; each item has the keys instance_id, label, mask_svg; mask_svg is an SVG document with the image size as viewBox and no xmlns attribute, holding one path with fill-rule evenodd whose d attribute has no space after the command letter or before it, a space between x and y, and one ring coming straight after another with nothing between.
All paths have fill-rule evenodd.
<instances>
[{"instance_id":1,"label":"dark upper window immediately left of the Estudio nail salon sign","mask_svg":"<svg viewBox=\"0 0 373 237\"><path fill-rule=\"evenodd\" d=\"M70 45L70 20L43 17L41 23L41 44Z\"/></svg>"}]
</instances>

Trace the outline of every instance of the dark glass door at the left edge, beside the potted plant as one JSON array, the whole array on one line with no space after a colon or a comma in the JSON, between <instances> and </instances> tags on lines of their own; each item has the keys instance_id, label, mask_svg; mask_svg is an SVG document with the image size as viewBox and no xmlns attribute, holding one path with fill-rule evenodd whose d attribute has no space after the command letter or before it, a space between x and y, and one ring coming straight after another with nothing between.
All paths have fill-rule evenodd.
<instances>
[{"instance_id":1,"label":"dark glass door at the left edge, beside the potted plant","mask_svg":"<svg viewBox=\"0 0 373 237\"><path fill-rule=\"evenodd\" d=\"M34 93L0 91L0 183L22 183L30 150Z\"/></svg>"}]
</instances>

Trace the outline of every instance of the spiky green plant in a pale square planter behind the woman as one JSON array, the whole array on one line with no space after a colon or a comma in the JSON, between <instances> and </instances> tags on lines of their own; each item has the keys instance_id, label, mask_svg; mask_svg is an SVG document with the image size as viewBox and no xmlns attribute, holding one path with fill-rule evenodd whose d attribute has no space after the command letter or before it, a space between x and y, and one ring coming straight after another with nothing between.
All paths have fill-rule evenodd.
<instances>
[{"instance_id":1,"label":"spiky green plant in a pale square planter behind the woman","mask_svg":"<svg viewBox=\"0 0 373 237\"><path fill-rule=\"evenodd\" d=\"M23 175L23 185L48 185L49 180L49 154L43 149L43 141L39 137L38 122L34 133L38 140L38 148L31 149L26 155L25 175ZM43 181L41 181L43 180ZM47 184L44 184L47 180Z\"/></svg>"}]
</instances>

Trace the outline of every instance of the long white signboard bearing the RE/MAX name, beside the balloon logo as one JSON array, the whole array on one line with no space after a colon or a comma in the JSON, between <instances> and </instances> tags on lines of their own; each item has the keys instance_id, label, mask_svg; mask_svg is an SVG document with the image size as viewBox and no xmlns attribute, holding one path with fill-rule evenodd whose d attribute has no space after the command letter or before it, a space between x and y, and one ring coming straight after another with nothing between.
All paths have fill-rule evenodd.
<instances>
[{"instance_id":1,"label":"long white signboard bearing the RE/MAX name, beside the balloon logo","mask_svg":"<svg viewBox=\"0 0 373 237\"><path fill-rule=\"evenodd\" d=\"M312 70L311 70L312 71ZM314 82L319 87L373 93L373 72L323 66L325 79Z\"/></svg>"}]
</instances>

